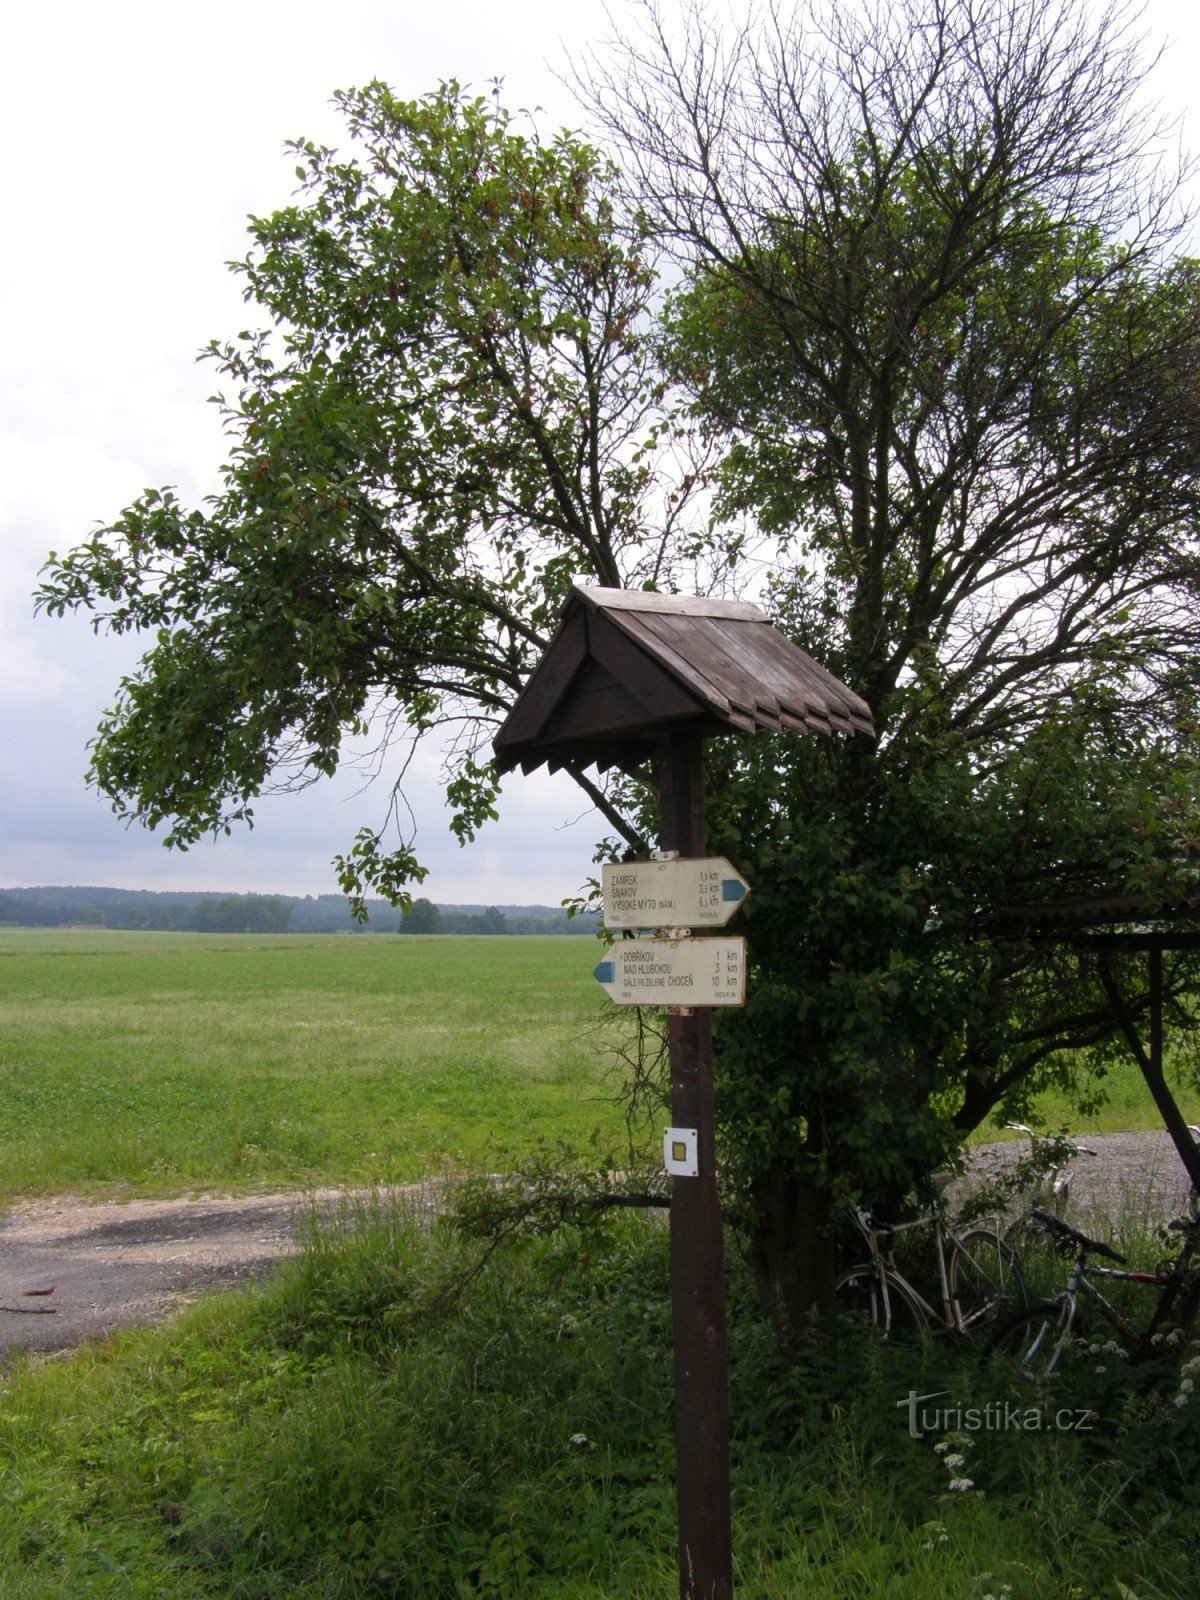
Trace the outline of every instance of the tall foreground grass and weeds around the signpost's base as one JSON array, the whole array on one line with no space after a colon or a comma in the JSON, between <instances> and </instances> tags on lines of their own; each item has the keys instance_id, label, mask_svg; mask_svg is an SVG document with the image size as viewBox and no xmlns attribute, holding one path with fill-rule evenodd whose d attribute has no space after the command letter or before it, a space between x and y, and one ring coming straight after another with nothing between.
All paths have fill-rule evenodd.
<instances>
[{"instance_id":1,"label":"tall foreground grass and weeds around the signpost's base","mask_svg":"<svg viewBox=\"0 0 1200 1600\"><path fill-rule=\"evenodd\" d=\"M664 1230L566 1230L438 1298L470 1259L381 1198L264 1290L10 1371L6 1600L670 1594ZM914 1438L910 1389L1032 1395L941 1346L771 1349L733 1264L739 1600L1194 1594L1195 1485L1139 1477L1120 1430Z\"/></svg>"}]
</instances>

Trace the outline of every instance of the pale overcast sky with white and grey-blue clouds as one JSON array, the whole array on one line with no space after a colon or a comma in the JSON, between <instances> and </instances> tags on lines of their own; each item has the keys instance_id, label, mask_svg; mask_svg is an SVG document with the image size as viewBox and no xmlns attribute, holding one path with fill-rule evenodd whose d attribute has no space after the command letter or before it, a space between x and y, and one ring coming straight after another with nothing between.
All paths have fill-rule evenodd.
<instances>
[{"instance_id":1,"label":"pale overcast sky with white and grey-blue clouds","mask_svg":"<svg viewBox=\"0 0 1200 1600\"><path fill-rule=\"evenodd\" d=\"M619 19L621 0L613 8ZM1200 6L1150 0L1174 43L1157 93L1195 147ZM142 488L211 491L221 461L213 371L197 350L245 325L224 262L245 218L286 203L283 141L338 142L336 88L387 80L406 96L456 77L574 122L565 50L608 32L598 0L42 0L13 8L0 59L5 330L0 339L0 888L322 893L330 861L378 821L382 794L338 779L266 798L250 834L168 853L85 789L86 741L136 659L78 619L34 619L30 590L64 550ZM443 902L555 902L589 875L603 832L566 781L510 778L469 850L445 827L437 762L410 797L422 893ZM573 826L568 826L573 824Z\"/></svg>"}]
</instances>

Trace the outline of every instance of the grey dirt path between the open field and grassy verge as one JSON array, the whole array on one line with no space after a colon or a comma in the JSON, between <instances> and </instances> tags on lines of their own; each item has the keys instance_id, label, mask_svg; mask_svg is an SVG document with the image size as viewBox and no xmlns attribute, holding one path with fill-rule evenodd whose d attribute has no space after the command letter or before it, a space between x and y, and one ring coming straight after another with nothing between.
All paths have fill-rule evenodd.
<instances>
[{"instance_id":1,"label":"grey dirt path between the open field and grassy verge","mask_svg":"<svg viewBox=\"0 0 1200 1600\"><path fill-rule=\"evenodd\" d=\"M1176 1216L1187 1181L1163 1133L1088 1141L1075 1166L1072 1216L1101 1234ZM1016 1160L1024 1141L984 1146L981 1163ZM296 1250L312 1206L336 1211L342 1194L238 1200L88 1203L64 1197L13 1206L0 1218L0 1354L58 1350L134 1323L155 1323L214 1285L261 1278Z\"/></svg>"}]
</instances>

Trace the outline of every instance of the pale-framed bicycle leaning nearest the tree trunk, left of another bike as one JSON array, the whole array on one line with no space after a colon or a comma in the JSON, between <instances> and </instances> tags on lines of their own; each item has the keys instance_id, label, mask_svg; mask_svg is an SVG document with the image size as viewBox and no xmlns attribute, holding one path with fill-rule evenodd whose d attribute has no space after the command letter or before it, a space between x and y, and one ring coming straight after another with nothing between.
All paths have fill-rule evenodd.
<instances>
[{"instance_id":1,"label":"pale-framed bicycle leaning nearest the tree trunk, left of another bike","mask_svg":"<svg viewBox=\"0 0 1200 1600\"><path fill-rule=\"evenodd\" d=\"M858 1205L850 1213L870 1259L838 1277L837 1301L848 1314L870 1322L885 1338L923 1334L934 1326L971 1338L1014 1302L1029 1306L1016 1251L995 1229L955 1229L938 1202L912 1222L882 1222ZM941 1310L904 1277L886 1248L886 1242L920 1227L933 1229Z\"/></svg>"}]
</instances>

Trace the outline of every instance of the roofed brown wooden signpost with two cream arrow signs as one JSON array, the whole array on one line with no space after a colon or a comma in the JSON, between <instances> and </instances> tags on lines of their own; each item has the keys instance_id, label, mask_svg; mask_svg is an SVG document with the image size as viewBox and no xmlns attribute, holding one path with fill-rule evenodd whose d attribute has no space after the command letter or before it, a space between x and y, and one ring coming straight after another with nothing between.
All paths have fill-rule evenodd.
<instances>
[{"instance_id":1,"label":"roofed brown wooden signpost with two cream arrow signs","mask_svg":"<svg viewBox=\"0 0 1200 1600\"><path fill-rule=\"evenodd\" d=\"M619 1005L664 1005L670 1053L670 1304L680 1600L731 1600L725 1250L717 1192L712 1008L746 995L742 939L720 928L747 893L706 851L702 741L757 730L874 733L870 710L754 605L576 589L496 736L499 771L653 763L658 861L605 869L605 925L658 928L595 976Z\"/></svg>"}]
</instances>

